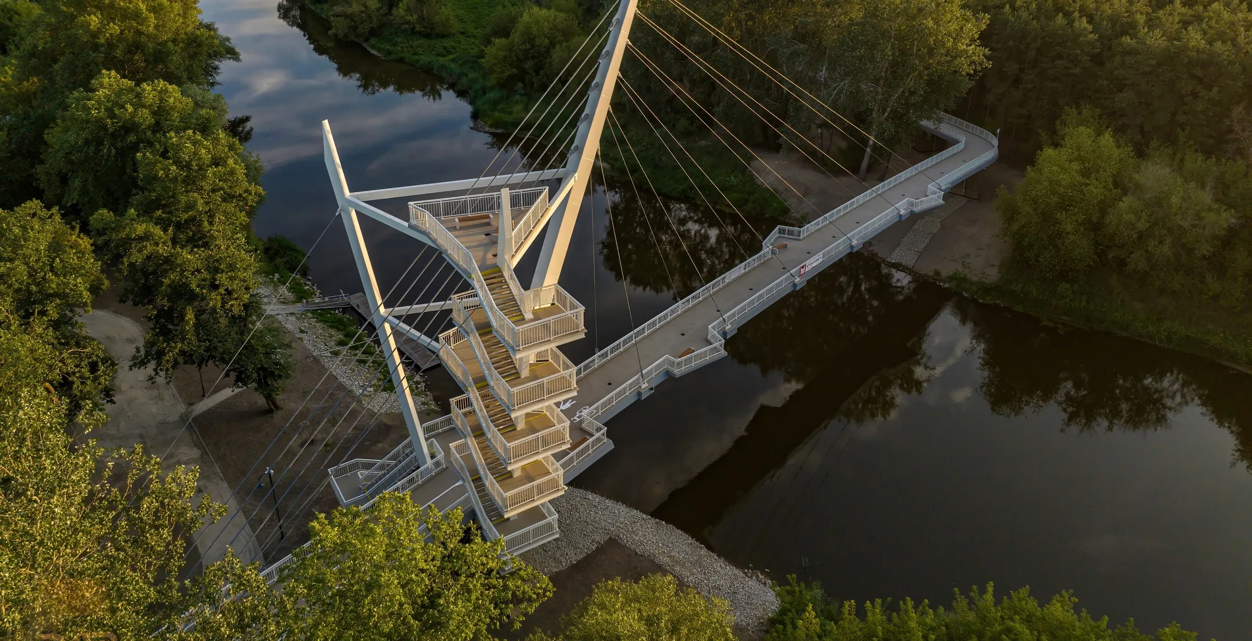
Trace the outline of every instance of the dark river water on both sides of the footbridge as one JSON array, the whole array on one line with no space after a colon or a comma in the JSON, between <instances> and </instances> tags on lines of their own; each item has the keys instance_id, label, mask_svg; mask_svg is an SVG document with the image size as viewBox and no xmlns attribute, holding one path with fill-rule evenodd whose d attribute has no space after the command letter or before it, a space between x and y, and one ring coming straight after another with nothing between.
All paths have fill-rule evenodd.
<instances>
[{"instance_id":1,"label":"dark river water on both sides of the footbridge","mask_svg":"<svg viewBox=\"0 0 1252 641\"><path fill-rule=\"evenodd\" d=\"M333 43L298 11L284 21L273 0L204 9L243 54L220 90L253 115L269 194L260 235L310 248L332 220L322 119L354 190L472 178L496 156L500 139L472 129L470 106L437 78ZM566 348L575 362L739 262L771 227L696 208L671 223L613 192L611 227L597 183L562 273L588 309L587 338ZM419 247L366 230L386 290ZM309 260L324 292L359 290L339 223ZM1114 622L1252 638L1252 377L1045 327L861 255L727 349L615 417L616 449L575 485L840 598L947 603L989 582L1042 598L1073 590Z\"/></svg>"}]
</instances>

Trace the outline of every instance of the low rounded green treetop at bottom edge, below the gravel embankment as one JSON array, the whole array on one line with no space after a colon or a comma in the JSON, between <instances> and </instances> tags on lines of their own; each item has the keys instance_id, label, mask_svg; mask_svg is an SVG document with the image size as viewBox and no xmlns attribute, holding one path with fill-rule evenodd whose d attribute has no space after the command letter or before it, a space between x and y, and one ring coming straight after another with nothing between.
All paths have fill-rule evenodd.
<instances>
[{"instance_id":1,"label":"low rounded green treetop at bottom edge, below the gravel embankment","mask_svg":"<svg viewBox=\"0 0 1252 641\"><path fill-rule=\"evenodd\" d=\"M592 588L561 618L563 641L732 641L735 616L730 603L707 600L692 588L679 588L670 575L649 575L637 582L613 578ZM531 641L551 640L540 632Z\"/></svg>"}]
</instances>

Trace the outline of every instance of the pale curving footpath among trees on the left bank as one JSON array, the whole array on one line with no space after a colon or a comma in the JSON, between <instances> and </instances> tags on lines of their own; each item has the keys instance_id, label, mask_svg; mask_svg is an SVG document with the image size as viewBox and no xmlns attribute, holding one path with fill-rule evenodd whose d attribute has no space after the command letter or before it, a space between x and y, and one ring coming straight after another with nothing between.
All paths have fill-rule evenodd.
<instances>
[{"instance_id":1,"label":"pale curving footpath among trees on the left bank","mask_svg":"<svg viewBox=\"0 0 1252 641\"><path fill-rule=\"evenodd\" d=\"M164 469L174 466L199 467L197 482L199 496L208 495L214 501L227 500L229 513L235 517L207 525L193 535L198 541L200 558L212 563L225 555L227 537L217 537L218 531L247 528L247 522L232 500L230 490L222 478L213 461L197 444L194 426L183 429L184 412L188 409L173 386L162 379L149 382L150 367L130 369L128 363L135 347L144 342L144 329L134 320L123 315L96 309L79 318L86 324L93 338L104 343L109 354L118 361L118 376L113 379L115 404L108 406L109 422L90 432L100 447L133 448L136 443L151 456L162 457ZM168 453L167 453L168 452ZM163 456L164 454L164 456ZM220 542L209 545L209 541ZM247 530L239 537L235 552L240 558L257 558L259 550L252 531Z\"/></svg>"}]
</instances>

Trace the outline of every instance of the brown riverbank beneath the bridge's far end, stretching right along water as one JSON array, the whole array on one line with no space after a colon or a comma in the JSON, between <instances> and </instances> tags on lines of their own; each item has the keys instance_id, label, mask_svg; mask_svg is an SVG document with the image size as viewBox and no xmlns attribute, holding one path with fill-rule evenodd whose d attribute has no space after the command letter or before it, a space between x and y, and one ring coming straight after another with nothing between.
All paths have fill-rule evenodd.
<instances>
[{"instance_id":1,"label":"brown riverbank beneath the bridge's far end, stretching right along water","mask_svg":"<svg viewBox=\"0 0 1252 641\"><path fill-rule=\"evenodd\" d=\"M775 167L798 184L825 182L830 194L845 187L794 159ZM1099 274L1082 288L1057 288L1012 269L995 194L1002 187L1012 190L1023 175L1018 168L995 163L948 194L943 207L900 220L865 248L896 268L984 303L1252 372L1252 318L1198 298L1163 297L1116 274ZM820 193L821 188L810 189Z\"/></svg>"}]
</instances>

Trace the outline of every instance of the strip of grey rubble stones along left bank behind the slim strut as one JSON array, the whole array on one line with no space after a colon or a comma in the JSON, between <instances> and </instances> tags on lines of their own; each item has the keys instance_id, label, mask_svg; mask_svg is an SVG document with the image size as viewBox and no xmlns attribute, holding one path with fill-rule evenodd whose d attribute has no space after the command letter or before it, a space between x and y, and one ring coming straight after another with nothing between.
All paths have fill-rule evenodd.
<instances>
[{"instance_id":1,"label":"strip of grey rubble stones along left bank behind the slim strut","mask_svg":"<svg viewBox=\"0 0 1252 641\"><path fill-rule=\"evenodd\" d=\"M264 279L260 287L257 288L257 293L260 294L267 305L294 302L294 297L288 294L280 285ZM332 353L332 351L356 349L356 347L341 347L338 344L341 338L338 332L317 322L309 314L275 314L273 318L287 328L288 332L299 338L309 348L309 352L313 353L313 357L334 374L344 387L356 394L361 394L359 403L368 411L379 413L399 412L399 399L396 398L396 394L378 389L382 377L374 381L371 389L366 389L371 379L376 376L373 368L366 367L364 363L358 362L356 358L339 357ZM367 334L361 334L362 341L367 338ZM382 363L376 364L382 367ZM431 393L426 389L426 379L412 371L408 372L408 379L414 389L413 402L417 403L418 408L432 407L433 401Z\"/></svg>"}]
</instances>

